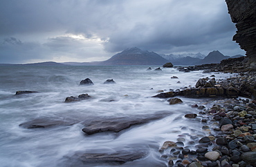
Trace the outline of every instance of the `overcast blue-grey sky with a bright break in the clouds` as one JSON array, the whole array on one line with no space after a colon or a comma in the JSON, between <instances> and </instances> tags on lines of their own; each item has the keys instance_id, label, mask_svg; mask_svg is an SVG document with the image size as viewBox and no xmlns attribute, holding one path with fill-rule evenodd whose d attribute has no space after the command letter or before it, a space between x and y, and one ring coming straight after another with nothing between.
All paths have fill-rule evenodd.
<instances>
[{"instance_id":1,"label":"overcast blue-grey sky with a bright break in the clouds","mask_svg":"<svg viewBox=\"0 0 256 167\"><path fill-rule=\"evenodd\" d=\"M0 63L104 61L127 48L245 55L225 0L1 0Z\"/></svg>"}]
</instances>

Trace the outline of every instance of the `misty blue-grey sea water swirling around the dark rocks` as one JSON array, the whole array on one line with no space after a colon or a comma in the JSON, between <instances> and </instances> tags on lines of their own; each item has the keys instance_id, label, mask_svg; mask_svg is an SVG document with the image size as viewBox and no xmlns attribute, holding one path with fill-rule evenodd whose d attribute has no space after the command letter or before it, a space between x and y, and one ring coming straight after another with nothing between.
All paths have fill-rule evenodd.
<instances>
[{"instance_id":1,"label":"misty blue-grey sea water swirling around the dark rocks","mask_svg":"<svg viewBox=\"0 0 256 167\"><path fill-rule=\"evenodd\" d=\"M118 150L145 150L147 156L125 164L90 166L166 166L161 159L164 141L204 135L200 120L183 116L199 112L192 104L210 99L181 97L183 104L169 105L167 99L152 98L165 92L194 86L202 77L216 79L230 74L179 72L176 68L147 70L149 66L0 66L0 166L87 166L72 159L75 153L111 153ZM171 79L172 76L179 79ZM80 86L90 78L93 86ZM113 79L116 84L103 84ZM180 81L180 83L177 83ZM38 93L15 95L17 90ZM87 93L92 98L64 103L66 97ZM85 135L84 120L104 117L142 117L163 114L162 119L131 126L121 132ZM78 120L70 126L27 129L20 124L37 118ZM200 118L199 118L200 119ZM197 130L197 131L196 131ZM170 151L170 150L169 150Z\"/></svg>"}]
</instances>

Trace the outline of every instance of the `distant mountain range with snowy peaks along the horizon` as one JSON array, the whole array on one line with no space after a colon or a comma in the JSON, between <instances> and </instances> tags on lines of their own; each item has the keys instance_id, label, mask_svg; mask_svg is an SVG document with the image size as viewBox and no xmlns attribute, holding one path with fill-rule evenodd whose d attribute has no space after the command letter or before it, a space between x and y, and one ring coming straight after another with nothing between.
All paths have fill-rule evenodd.
<instances>
[{"instance_id":1,"label":"distant mountain range with snowy peaks along the horizon","mask_svg":"<svg viewBox=\"0 0 256 167\"><path fill-rule=\"evenodd\" d=\"M158 55L156 52L149 52L141 50L140 48L128 48L113 55L106 61L93 62L44 62L44 63L29 63L25 65L39 65L39 66L163 66L167 62L171 62L174 66L195 66L206 63L220 63L223 59L241 57L243 55L235 55L234 57L224 56L218 50L210 52L207 56L199 53L188 53L180 55ZM3 64L0 64L3 65Z\"/></svg>"}]
</instances>

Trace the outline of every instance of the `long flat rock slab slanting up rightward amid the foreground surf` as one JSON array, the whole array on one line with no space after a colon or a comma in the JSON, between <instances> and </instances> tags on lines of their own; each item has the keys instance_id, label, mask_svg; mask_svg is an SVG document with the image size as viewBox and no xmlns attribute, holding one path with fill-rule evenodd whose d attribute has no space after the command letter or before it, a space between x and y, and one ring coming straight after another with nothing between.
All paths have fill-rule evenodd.
<instances>
[{"instance_id":1,"label":"long flat rock slab slanting up rightward amid the foreground surf","mask_svg":"<svg viewBox=\"0 0 256 167\"><path fill-rule=\"evenodd\" d=\"M149 121L161 119L170 115L167 113L158 113L155 115L135 115L130 117L103 117L92 121L85 121L85 128L82 129L87 135L93 135L98 132L120 132L134 125L145 124Z\"/></svg>"}]
</instances>

